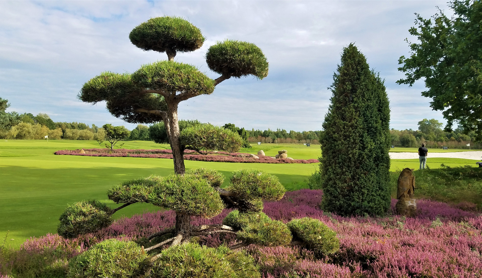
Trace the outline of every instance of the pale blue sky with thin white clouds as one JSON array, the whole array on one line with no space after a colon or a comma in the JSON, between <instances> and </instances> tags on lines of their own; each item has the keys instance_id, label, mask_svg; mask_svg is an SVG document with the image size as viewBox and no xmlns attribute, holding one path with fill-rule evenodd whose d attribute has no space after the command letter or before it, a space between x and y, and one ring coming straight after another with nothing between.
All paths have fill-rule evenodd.
<instances>
[{"instance_id":1,"label":"pale blue sky with thin white clouds","mask_svg":"<svg viewBox=\"0 0 482 278\"><path fill-rule=\"evenodd\" d=\"M10 111L47 113L54 121L102 125L128 124L112 117L105 104L76 98L82 84L102 71L134 72L165 60L165 53L144 52L129 32L151 17L182 16L207 38L201 49L178 53L208 76L204 54L218 40L258 45L269 62L268 77L228 79L214 93L184 101L181 119L248 129L320 130L327 112L333 73L343 47L354 42L385 79L390 126L417 128L424 118L445 122L422 97L423 81L397 85L403 75L398 58L414 13L429 17L446 1L5 1L0 0L0 97Z\"/></svg>"}]
</instances>

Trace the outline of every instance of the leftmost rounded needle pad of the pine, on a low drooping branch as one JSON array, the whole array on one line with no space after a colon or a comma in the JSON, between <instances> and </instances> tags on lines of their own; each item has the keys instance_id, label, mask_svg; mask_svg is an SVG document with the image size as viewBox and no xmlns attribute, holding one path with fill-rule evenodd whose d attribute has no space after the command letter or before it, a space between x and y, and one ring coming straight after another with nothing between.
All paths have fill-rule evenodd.
<instances>
[{"instance_id":1,"label":"leftmost rounded needle pad of the pine, on a low drooping branch","mask_svg":"<svg viewBox=\"0 0 482 278\"><path fill-rule=\"evenodd\" d=\"M57 233L63 238L75 238L109 226L112 210L103 202L88 200L67 206L60 215Z\"/></svg>"}]
</instances>

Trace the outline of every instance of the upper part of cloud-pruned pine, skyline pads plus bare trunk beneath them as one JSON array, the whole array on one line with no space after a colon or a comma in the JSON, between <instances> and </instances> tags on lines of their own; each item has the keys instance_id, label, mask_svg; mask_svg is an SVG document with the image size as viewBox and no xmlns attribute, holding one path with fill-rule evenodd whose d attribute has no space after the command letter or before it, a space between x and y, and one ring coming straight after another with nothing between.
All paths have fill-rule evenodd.
<instances>
[{"instance_id":1,"label":"upper part of cloud-pruned pine, skyline pads plus bare trunk beneath them","mask_svg":"<svg viewBox=\"0 0 482 278\"><path fill-rule=\"evenodd\" d=\"M196 26L180 17L156 17L135 27L129 39L138 48L165 52L168 61L141 66L133 74L104 72L85 83L79 94L84 102L107 101L109 112L130 123L163 121L173 151L174 172L185 172L177 107L181 101L211 94L214 87L230 78L268 76L268 62L256 45L225 40L211 46L206 63L220 74L210 79L195 66L174 62L177 52L199 49L205 38Z\"/></svg>"}]
</instances>

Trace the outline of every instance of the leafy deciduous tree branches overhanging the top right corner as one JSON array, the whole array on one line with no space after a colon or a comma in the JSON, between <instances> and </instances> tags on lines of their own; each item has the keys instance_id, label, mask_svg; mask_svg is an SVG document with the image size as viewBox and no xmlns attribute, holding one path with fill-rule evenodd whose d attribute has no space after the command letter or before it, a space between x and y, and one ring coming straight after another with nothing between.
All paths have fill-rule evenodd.
<instances>
[{"instance_id":1,"label":"leafy deciduous tree branches overhanging the top right corner","mask_svg":"<svg viewBox=\"0 0 482 278\"><path fill-rule=\"evenodd\" d=\"M412 86L424 79L428 90L422 95L432 98L430 107L443 111L445 130L451 132L457 122L482 140L482 1L454 0L449 7L452 18L442 10L429 19L416 14L409 33L418 41L406 40L411 53L399 59L405 78L397 83Z\"/></svg>"}]
</instances>

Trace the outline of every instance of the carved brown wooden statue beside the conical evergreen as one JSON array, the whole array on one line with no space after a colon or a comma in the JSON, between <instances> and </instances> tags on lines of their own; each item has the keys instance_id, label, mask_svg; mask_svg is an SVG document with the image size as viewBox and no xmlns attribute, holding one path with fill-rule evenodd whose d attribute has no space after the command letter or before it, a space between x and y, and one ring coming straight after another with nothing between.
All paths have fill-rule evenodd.
<instances>
[{"instance_id":1,"label":"carved brown wooden statue beside the conical evergreen","mask_svg":"<svg viewBox=\"0 0 482 278\"><path fill-rule=\"evenodd\" d=\"M415 201L414 169L405 168L400 173L397 181L397 213L404 216L415 216L417 205Z\"/></svg>"}]
</instances>

